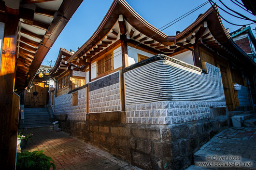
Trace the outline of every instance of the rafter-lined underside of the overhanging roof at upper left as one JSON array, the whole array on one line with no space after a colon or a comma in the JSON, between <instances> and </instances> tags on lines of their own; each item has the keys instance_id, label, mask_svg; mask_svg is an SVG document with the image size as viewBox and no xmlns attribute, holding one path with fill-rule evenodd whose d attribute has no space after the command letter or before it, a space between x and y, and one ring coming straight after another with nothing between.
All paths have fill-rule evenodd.
<instances>
[{"instance_id":1,"label":"rafter-lined underside of the overhanging roof at upper left","mask_svg":"<svg viewBox=\"0 0 256 170\"><path fill-rule=\"evenodd\" d=\"M21 0L14 86L17 92L28 87L47 52L82 1Z\"/></svg>"}]
</instances>

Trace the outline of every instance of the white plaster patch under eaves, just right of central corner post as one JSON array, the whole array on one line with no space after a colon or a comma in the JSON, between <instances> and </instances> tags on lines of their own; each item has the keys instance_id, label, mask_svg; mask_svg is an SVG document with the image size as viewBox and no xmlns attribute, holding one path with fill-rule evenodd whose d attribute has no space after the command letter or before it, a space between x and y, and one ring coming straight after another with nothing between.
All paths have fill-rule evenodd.
<instances>
[{"instance_id":1,"label":"white plaster patch under eaves, just right of central corner post","mask_svg":"<svg viewBox=\"0 0 256 170\"><path fill-rule=\"evenodd\" d=\"M136 48L131 48L128 46L128 65L133 65L135 63L138 63L138 53L145 55L147 57L152 57L154 56L151 53L148 52L143 52L142 50L136 49Z\"/></svg>"}]
</instances>

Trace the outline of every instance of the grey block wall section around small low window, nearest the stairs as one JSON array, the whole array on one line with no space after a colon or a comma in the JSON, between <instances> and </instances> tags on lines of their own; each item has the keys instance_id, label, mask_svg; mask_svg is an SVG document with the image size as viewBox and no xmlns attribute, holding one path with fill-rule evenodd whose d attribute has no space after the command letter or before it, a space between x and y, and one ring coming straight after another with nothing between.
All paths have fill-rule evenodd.
<instances>
[{"instance_id":1,"label":"grey block wall section around small low window, nearest the stairs","mask_svg":"<svg viewBox=\"0 0 256 170\"><path fill-rule=\"evenodd\" d=\"M70 120L86 119L86 88L78 92L78 105L72 106L72 93L55 98L55 114L68 114Z\"/></svg>"}]
</instances>

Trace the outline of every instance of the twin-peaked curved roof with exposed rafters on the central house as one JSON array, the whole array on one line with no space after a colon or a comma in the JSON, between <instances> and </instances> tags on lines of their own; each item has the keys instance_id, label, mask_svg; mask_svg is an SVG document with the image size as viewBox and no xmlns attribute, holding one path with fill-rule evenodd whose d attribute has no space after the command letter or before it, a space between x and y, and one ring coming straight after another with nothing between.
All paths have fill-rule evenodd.
<instances>
[{"instance_id":1,"label":"twin-peaked curved roof with exposed rafters on the central house","mask_svg":"<svg viewBox=\"0 0 256 170\"><path fill-rule=\"evenodd\" d=\"M114 0L91 38L67 62L81 69L86 65L85 59L99 57L106 48L125 36L128 42L169 56L182 50L192 51L197 41L226 59L235 59L243 65L255 65L230 38L216 11L217 8L211 7L181 33L166 36L147 23L125 0Z\"/></svg>"}]
</instances>

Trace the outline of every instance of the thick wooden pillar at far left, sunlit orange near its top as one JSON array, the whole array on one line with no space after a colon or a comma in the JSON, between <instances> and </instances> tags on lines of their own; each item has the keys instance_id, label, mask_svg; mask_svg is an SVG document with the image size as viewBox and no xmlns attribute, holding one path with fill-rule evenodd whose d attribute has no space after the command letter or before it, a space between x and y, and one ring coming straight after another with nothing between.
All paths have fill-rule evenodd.
<instances>
[{"instance_id":1,"label":"thick wooden pillar at far left, sunlit orange near its top","mask_svg":"<svg viewBox=\"0 0 256 170\"><path fill-rule=\"evenodd\" d=\"M18 18L5 14L5 27L0 68L0 170L14 170L18 114L13 92ZM13 98L15 100L13 100Z\"/></svg>"}]
</instances>

